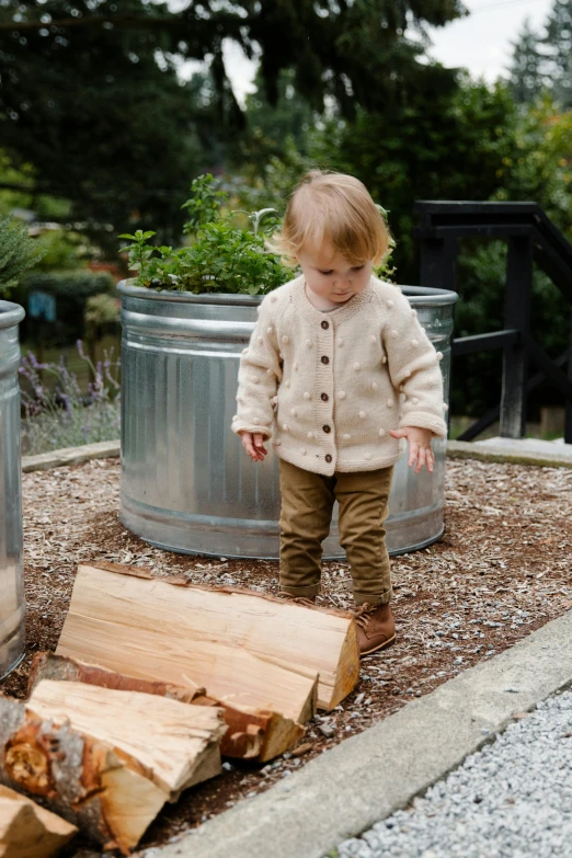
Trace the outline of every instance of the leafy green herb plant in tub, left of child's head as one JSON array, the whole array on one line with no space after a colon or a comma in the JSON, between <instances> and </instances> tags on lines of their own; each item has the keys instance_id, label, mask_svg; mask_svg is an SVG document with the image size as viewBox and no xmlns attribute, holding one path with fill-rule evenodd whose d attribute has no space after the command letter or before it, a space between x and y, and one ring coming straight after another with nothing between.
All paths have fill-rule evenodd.
<instances>
[{"instance_id":1,"label":"leafy green herb plant in tub, left of child's head","mask_svg":"<svg viewBox=\"0 0 572 858\"><path fill-rule=\"evenodd\" d=\"M185 233L192 243L173 250L155 245L152 231L137 230L119 236L131 243L129 267L137 272L135 285L157 290L199 293L240 293L261 295L286 283L291 268L266 249L266 238L278 225L275 209L225 213L228 194L210 173L195 179L191 198L184 204L188 220ZM238 215L247 215L252 229L237 226Z\"/></svg>"}]
</instances>

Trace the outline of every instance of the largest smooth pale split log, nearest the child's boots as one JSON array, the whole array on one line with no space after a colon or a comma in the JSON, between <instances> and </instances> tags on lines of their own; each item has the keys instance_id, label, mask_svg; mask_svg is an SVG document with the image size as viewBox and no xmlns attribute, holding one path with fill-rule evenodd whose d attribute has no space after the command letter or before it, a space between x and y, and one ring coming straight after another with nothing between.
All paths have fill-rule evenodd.
<instances>
[{"instance_id":1,"label":"largest smooth pale split log, nearest the child's boots","mask_svg":"<svg viewBox=\"0 0 572 858\"><path fill-rule=\"evenodd\" d=\"M107 563L79 567L57 652L122 674L204 685L217 700L298 723L313 716L318 675L318 706L331 709L359 674L346 611Z\"/></svg>"}]
</instances>

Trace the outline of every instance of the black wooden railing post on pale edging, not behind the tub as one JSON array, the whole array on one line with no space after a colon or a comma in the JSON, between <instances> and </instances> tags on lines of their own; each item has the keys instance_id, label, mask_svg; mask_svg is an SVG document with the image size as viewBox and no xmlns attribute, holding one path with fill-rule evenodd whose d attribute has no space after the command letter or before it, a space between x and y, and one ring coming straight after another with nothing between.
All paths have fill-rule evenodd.
<instances>
[{"instance_id":1,"label":"black wooden railing post on pale edging, not behind the tub","mask_svg":"<svg viewBox=\"0 0 572 858\"><path fill-rule=\"evenodd\" d=\"M533 240L508 237L504 327L528 333L533 287ZM523 341L507 346L503 359L501 436L523 438L526 432L526 381L528 361Z\"/></svg>"}]
</instances>

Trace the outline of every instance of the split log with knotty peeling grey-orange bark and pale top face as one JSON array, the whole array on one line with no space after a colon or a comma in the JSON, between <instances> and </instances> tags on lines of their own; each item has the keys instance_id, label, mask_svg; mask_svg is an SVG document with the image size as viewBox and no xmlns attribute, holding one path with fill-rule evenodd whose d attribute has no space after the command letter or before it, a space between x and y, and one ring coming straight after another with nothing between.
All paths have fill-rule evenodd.
<instances>
[{"instance_id":1,"label":"split log with knotty peeling grey-orange bark and pale top face","mask_svg":"<svg viewBox=\"0 0 572 858\"><path fill-rule=\"evenodd\" d=\"M220 771L219 710L80 683L0 697L0 782L105 848L133 849L165 801Z\"/></svg>"}]
</instances>

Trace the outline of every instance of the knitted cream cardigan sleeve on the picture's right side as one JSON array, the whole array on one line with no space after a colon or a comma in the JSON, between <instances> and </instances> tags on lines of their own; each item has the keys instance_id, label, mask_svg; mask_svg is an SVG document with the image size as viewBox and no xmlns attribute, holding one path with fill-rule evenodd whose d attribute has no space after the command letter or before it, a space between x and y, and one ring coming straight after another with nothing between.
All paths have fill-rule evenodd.
<instances>
[{"instance_id":1,"label":"knitted cream cardigan sleeve on the picture's right side","mask_svg":"<svg viewBox=\"0 0 572 858\"><path fill-rule=\"evenodd\" d=\"M437 354L416 311L397 293L384 329L391 384L399 391L399 426L427 428L446 437L443 375Z\"/></svg>"}]
</instances>

